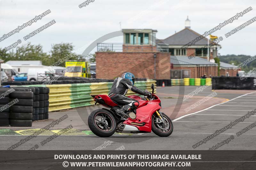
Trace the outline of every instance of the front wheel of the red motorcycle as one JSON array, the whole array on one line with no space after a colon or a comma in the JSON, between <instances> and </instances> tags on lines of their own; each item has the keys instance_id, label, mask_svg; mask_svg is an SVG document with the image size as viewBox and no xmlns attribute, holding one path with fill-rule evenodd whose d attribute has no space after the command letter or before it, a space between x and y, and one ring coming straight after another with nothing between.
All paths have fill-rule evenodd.
<instances>
[{"instance_id":1,"label":"front wheel of the red motorcycle","mask_svg":"<svg viewBox=\"0 0 256 170\"><path fill-rule=\"evenodd\" d=\"M155 114L152 115L152 131L160 137L168 137L172 134L173 124L172 120L162 113L164 122L161 122L159 117Z\"/></svg>"}]
</instances>

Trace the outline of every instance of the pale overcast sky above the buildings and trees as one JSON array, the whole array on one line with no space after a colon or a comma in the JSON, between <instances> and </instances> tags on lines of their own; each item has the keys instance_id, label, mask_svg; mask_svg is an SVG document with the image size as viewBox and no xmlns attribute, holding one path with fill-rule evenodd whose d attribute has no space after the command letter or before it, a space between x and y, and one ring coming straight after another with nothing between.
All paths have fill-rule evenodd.
<instances>
[{"instance_id":1,"label":"pale overcast sky above the buildings and trees","mask_svg":"<svg viewBox=\"0 0 256 170\"><path fill-rule=\"evenodd\" d=\"M121 28L156 29L158 39L164 39L184 28L184 21L191 20L191 29L203 34L219 23L252 7L246 13L220 30L212 33L222 36L221 55L255 55L256 22L226 38L225 34L256 16L256 2L234 0L94 0L79 8L83 0L0 0L0 37L9 33L36 15L51 10L51 13L27 26L19 33L0 42L4 48L17 40L21 44L28 41L41 44L45 52L51 45L60 42L73 43L75 49L90 44L101 36ZM55 20L56 23L35 36L24 41L23 37L44 24ZM123 42L123 37L112 38L106 42ZM94 52L94 51L92 51ZM81 53L80 53L81 54Z\"/></svg>"}]
</instances>

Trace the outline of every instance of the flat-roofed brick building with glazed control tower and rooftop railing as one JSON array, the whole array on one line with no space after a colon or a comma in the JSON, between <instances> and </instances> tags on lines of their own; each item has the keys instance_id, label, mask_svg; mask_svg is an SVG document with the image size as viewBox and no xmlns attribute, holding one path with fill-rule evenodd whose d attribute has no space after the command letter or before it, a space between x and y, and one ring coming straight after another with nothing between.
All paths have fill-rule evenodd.
<instances>
[{"instance_id":1,"label":"flat-roofed brick building with glazed control tower and rooftop railing","mask_svg":"<svg viewBox=\"0 0 256 170\"><path fill-rule=\"evenodd\" d=\"M157 48L156 30L123 29L124 43L99 43L97 78L114 79L124 71L137 78L170 79L170 53Z\"/></svg>"}]
</instances>

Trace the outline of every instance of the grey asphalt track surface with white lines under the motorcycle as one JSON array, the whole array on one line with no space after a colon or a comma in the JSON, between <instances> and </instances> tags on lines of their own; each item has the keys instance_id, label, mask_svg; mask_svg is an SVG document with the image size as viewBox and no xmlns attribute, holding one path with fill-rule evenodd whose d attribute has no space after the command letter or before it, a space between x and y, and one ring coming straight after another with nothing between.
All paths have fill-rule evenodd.
<instances>
[{"instance_id":1,"label":"grey asphalt track surface with white lines under the motorcycle","mask_svg":"<svg viewBox=\"0 0 256 170\"><path fill-rule=\"evenodd\" d=\"M169 89L172 92L178 92L178 88L177 86L165 89L159 88L157 92L166 92ZM209 95L212 93L210 88L205 89L198 95ZM195 90L195 87L188 86L185 88L184 93L188 94L193 90ZM234 136L234 139L218 148L218 150L256 150L256 127L239 137L236 136L238 131L256 122L256 115L237 123L231 129L227 129L195 149L192 147L192 145L215 133L216 130L224 128L230 122L256 108L256 92L248 92L247 94L224 92L218 93L216 97L229 100L173 120L174 130L170 137L158 137L154 133L113 135L108 138L100 138L95 135L59 136L52 140L51 143L40 146L38 150L92 150L107 141L112 141L112 143L103 150L115 150L121 146L125 150L208 150L213 145L231 137L231 135ZM40 144L46 138L46 136L37 136L15 150L28 150L35 144ZM6 150L21 139L24 139L24 136L1 136L0 149Z\"/></svg>"}]
</instances>

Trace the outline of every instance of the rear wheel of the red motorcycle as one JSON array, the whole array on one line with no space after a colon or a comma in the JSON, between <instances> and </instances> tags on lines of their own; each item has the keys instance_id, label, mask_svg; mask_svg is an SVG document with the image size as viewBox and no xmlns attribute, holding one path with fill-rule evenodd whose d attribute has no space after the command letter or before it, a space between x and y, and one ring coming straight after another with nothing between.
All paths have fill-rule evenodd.
<instances>
[{"instance_id":1,"label":"rear wheel of the red motorcycle","mask_svg":"<svg viewBox=\"0 0 256 170\"><path fill-rule=\"evenodd\" d=\"M115 117L104 109L94 110L88 117L88 125L98 137L110 137L116 131Z\"/></svg>"}]
</instances>

